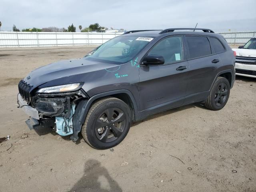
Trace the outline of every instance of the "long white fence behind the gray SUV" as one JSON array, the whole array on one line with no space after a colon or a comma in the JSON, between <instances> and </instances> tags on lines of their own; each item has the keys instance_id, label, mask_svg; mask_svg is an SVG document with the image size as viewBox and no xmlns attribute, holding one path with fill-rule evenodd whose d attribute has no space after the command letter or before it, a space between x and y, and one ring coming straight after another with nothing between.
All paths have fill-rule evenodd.
<instances>
[{"instance_id":1,"label":"long white fence behind the gray SUV","mask_svg":"<svg viewBox=\"0 0 256 192\"><path fill-rule=\"evenodd\" d=\"M0 48L100 45L122 33L0 32ZM220 32L229 44L245 44L256 31Z\"/></svg>"}]
</instances>

